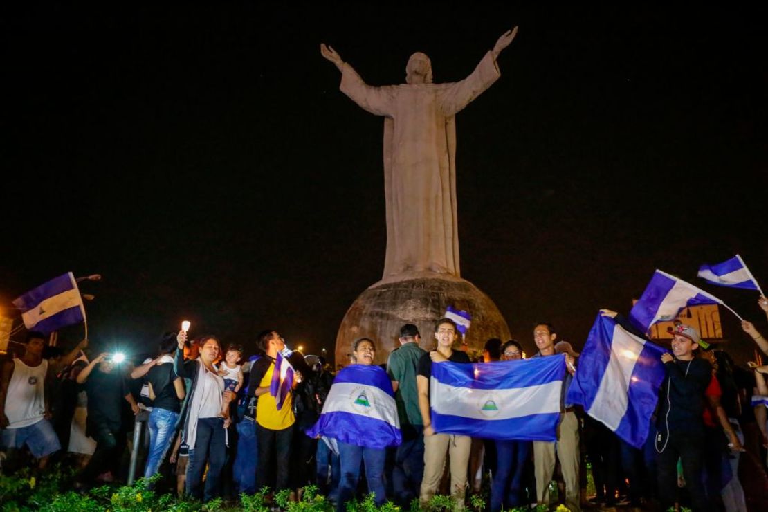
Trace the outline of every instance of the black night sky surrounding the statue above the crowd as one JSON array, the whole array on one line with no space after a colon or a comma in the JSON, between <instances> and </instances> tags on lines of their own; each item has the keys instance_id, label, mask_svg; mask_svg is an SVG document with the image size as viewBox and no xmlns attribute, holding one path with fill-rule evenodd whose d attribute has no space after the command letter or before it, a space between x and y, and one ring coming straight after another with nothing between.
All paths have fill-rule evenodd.
<instances>
[{"instance_id":1,"label":"black night sky surrounding the statue above the crowd","mask_svg":"<svg viewBox=\"0 0 768 512\"><path fill-rule=\"evenodd\" d=\"M756 8L21 9L0 18L3 305L101 273L81 287L94 342L147 350L190 319L225 342L273 328L333 352L383 268L383 124L339 91L319 43L369 84L404 81L413 51L456 81L520 25L502 78L457 116L462 276L529 352L541 319L583 345L597 310L628 312L655 268L766 330L755 293L695 277L740 253L768 287Z\"/></svg>"}]
</instances>

